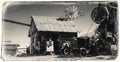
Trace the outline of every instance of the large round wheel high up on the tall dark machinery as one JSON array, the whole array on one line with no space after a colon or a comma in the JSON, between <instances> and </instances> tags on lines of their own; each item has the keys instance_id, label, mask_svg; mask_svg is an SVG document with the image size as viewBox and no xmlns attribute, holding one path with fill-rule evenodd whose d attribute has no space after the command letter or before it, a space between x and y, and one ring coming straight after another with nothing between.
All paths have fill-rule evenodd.
<instances>
[{"instance_id":1,"label":"large round wheel high up on the tall dark machinery","mask_svg":"<svg viewBox=\"0 0 120 62\"><path fill-rule=\"evenodd\" d=\"M109 16L109 11L106 7L96 7L91 13L91 18L95 23L101 23Z\"/></svg>"}]
</instances>

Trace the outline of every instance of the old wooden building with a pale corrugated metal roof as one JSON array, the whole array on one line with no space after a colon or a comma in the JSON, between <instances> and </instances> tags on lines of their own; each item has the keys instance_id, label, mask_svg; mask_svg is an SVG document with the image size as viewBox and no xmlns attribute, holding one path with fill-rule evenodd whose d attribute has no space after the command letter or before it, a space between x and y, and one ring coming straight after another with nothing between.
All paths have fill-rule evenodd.
<instances>
[{"instance_id":1,"label":"old wooden building with a pale corrugated metal roof","mask_svg":"<svg viewBox=\"0 0 120 62\"><path fill-rule=\"evenodd\" d=\"M62 20L59 17L31 16L29 37L31 38L30 52L44 54L46 41L54 42L54 53L60 51L60 39L77 37L77 28L74 21Z\"/></svg>"}]
</instances>

